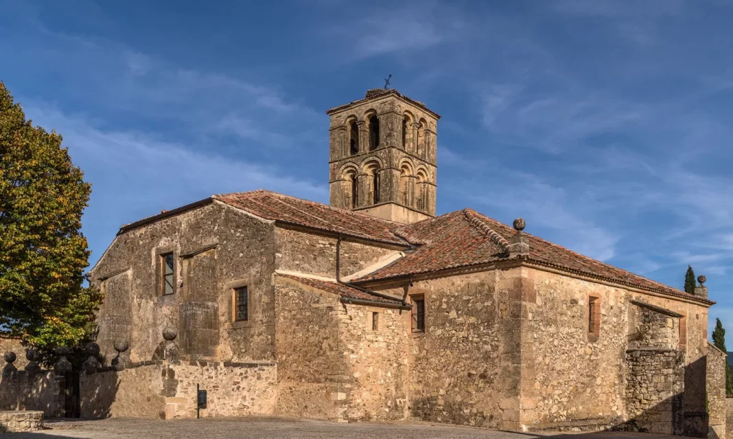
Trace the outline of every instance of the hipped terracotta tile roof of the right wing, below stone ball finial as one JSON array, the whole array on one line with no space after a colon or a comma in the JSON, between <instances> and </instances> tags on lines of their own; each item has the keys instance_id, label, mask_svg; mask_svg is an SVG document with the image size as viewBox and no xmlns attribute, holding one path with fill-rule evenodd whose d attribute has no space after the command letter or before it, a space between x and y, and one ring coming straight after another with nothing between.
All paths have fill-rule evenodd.
<instances>
[{"instance_id":1,"label":"hipped terracotta tile roof of the right wing, below stone ball finial","mask_svg":"<svg viewBox=\"0 0 733 439\"><path fill-rule=\"evenodd\" d=\"M354 283L506 260L509 258L506 243L516 231L472 209L463 209L402 226L394 233L419 247L404 258L353 280ZM715 303L525 234L530 249L525 257L527 261L705 304Z\"/></svg>"}]
</instances>

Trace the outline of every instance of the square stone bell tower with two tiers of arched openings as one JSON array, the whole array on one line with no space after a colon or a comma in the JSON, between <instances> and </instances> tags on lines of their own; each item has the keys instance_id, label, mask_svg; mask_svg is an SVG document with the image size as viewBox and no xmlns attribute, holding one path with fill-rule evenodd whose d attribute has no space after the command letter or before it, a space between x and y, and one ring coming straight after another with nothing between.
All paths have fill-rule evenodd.
<instances>
[{"instance_id":1,"label":"square stone bell tower with two tiers of arched openings","mask_svg":"<svg viewBox=\"0 0 733 439\"><path fill-rule=\"evenodd\" d=\"M403 224L435 217L439 115L386 89L326 114L331 206Z\"/></svg>"}]
</instances>

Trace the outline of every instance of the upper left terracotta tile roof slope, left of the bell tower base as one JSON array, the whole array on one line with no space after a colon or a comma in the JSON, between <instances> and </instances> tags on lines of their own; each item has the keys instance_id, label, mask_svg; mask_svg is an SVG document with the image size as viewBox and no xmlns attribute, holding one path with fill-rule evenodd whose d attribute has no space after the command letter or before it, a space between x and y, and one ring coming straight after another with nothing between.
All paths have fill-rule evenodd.
<instances>
[{"instance_id":1,"label":"upper left terracotta tile roof slope, left of the bell tower base","mask_svg":"<svg viewBox=\"0 0 733 439\"><path fill-rule=\"evenodd\" d=\"M343 233L371 241L408 246L391 232L396 222L326 206L301 198L289 197L262 189L251 192L213 195L216 200L241 208L257 217L291 225L301 225L331 233Z\"/></svg>"}]
</instances>

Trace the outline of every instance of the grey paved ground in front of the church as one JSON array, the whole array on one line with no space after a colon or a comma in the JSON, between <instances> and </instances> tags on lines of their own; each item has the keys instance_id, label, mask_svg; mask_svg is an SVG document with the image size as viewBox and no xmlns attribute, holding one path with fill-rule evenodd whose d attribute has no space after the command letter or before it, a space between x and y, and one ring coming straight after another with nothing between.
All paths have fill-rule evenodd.
<instances>
[{"instance_id":1,"label":"grey paved ground in front of the church","mask_svg":"<svg viewBox=\"0 0 733 439\"><path fill-rule=\"evenodd\" d=\"M14 433L8 439L265 439L265 438L485 438L532 439L540 435L501 432L470 427L452 427L444 424L334 424L292 418L251 416L246 418L181 419L150 421L141 419L104 419L101 421L47 421L48 429L34 433ZM0 434L1 436L1 434ZM671 436L641 433L583 433L575 435L542 435L542 439L670 439Z\"/></svg>"}]
</instances>

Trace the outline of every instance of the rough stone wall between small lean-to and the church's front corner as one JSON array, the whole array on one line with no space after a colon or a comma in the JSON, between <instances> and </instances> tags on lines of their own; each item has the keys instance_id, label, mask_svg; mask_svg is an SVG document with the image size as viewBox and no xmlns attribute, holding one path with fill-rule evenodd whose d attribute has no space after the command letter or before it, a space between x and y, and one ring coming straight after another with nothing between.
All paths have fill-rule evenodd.
<instances>
[{"instance_id":1,"label":"rough stone wall between small lean-to and the church's front corner","mask_svg":"<svg viewBox=\"0 0 733 439\"><path fill-rule=\"evenodd\" d=\"M424 333L410 332L410 319L404 321L410 416L496 428L504 426L504 410L516 409L518 399L509 402L505 388L518 385L509 376L519 360L510 352L509 339L519 309L509 310L507 296L497 294L498 281L507 276L482 272L410 287L411 297L420 294L425 300ZM386 292L401 296L404 291Z\"/></svg>"}]
</instances>

